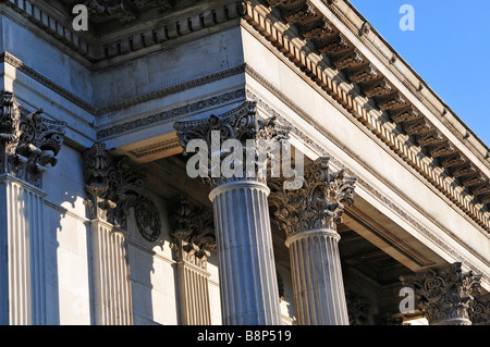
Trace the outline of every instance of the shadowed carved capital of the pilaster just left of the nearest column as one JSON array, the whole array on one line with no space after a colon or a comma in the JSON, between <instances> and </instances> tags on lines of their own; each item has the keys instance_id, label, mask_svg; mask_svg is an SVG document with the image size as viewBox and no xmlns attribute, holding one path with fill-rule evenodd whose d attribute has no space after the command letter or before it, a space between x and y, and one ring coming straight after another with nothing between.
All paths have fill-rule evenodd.
<instances>
[{"instance_id":1,"label":"shadowed carved capital of the pilaster just left of the nearest column","mask_svg":"<svg viewBox=\"0 0 490 347\"><path fill-rule=\"evenodd\" d=\"M170 215L170 247L174 260L206 270L207 258L217 247L212 210L194 208L186 198L182 198Z\"/></svg>"}]
</instances>

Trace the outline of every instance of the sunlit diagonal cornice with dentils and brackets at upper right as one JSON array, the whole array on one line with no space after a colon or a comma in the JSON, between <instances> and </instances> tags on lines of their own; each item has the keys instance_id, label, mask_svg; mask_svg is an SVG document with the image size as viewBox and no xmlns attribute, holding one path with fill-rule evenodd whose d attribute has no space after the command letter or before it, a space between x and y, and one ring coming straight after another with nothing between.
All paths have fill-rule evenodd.
<instances>
[{"instance_id":1,"label":"sunlit diagonal cornice with dentils and brackets at upper right","mask_svg":"<svg viewBox=\"0 0 490 347\"><path fill-rule=\"evenodd\" d=\"M305 1L297 2L299 3ZM314 11L315 15L321 17L318 12L315 12L314 8L308 9L308 11ZM291 12L291 9L287 11ZM292 14L290 12L287 12L287 15L291 16ZM316 60L314 61L311 59L313 55L308 55L302 47L298 47L295 42L293 42L294 36L291 37L291 35L293 35L291 30L285 32L280 25L274 25L270 22L269 17L271 17L272 14L270 13L270 10L267 12L267 8L260 7L258 9L258 7L253 5L250 2L244 1L241 13L243 14L245 21L255 30L260 33L280 52L287 57L290 61L298 66L306 76L313 79L326 92L338 100L344 109L346 109L362 124L369 128L372 134L380 138L411 166L417 170L419 174L429 181L437 189L441 190L458 208L471 216L478 225L483 227L487 232L490 231L490 219L486 215L488 214L488 208L481 203L490 203L490 201L487 202L487 200L490 199L490 195L487 191L490 189L488 178L485 177L483 174L475 168L475 165L471 165L469 160L465 158L464 154L455 150L454 145L450 144L448 139L439 134L439 131L436 129L433 125L431 125L430 122L427 121L427 119L418 110L416 110L415 107L411 107L411 104L406 101L406 98L402 96L400 91L391 87L388 88L390 83L385 85L378 85L372 83L368 75L363 77L368 78L364 80L364 92L369 91L368 94L373 97L376 97L378 92L375 100L377 108L371 110L367 109L365 106L367 98L366 95L362 97L360 95L357 95L354 89L347 91L344 90L343 88L345 85L352 85L351 82L345 80L345 83L343 83L344 80L341 78L339 83L339 80L331 77L329 73L330 69L323 67L324 63L331 64L333 61L334 64L336 64L336 69L343 70L345 75L356 75L352 73L350 74L350 72L353 70L356 71L356 69L358 71L358 69L360 69L359 66L364 66L363 64L366 63L366 58L359 54L355 48L348 48L346 53L342 53L344 55L340 54L341 58L339 58L339 55L334 55L332 58L331 54L328 58L323 57L327 58L327 60L323 59L322 64L319 64ZM336 33L338 36L341 35L340 32ZM346 47L353 47L352 44L348 42L345 45ZM320 58L321 57L322 55L320 55ZM357 61L363 61L363 63L357 63ZM340 69L340 66L342 69ZM373 80L382 82L382 78L377 77L377 79ZM376 88L380 91L375 91L377 90ZM387 114L389 114L389 117ZM396 119L400 124L396 124L393 119ZM422 150L416 152L414 149L417 147L412 147L411 149L405 140L400 139L397 137L397 131L395 129L396 126L400 128L401 125L406 133L409 133L407 135L412 136L415 141L418 141L419 145L426 145L426 151L438 156L439 163L434 160L434 157L427 156ZM443 145L449 145L450 151L437 152L438 150L443 149ZM424 146L420 145L420 147ZM427 158L428 161L422 158ZM455 169L462 170L469 165L471 165L471 170L476 171L463 170L464 174L468 174L468 176L460 176L458 179L456 179L454 174L457 170ZM478 201L477 197L480 201Z\"/></svg>"}]
</instances>

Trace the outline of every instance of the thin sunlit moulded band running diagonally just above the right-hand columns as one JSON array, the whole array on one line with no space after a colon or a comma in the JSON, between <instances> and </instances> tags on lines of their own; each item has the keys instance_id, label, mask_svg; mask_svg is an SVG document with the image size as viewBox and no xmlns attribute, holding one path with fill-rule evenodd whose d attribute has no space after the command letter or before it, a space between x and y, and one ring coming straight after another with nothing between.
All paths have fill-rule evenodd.
<instances>
[{"instance_id":1,"label":"thin sunlit moulded band running diagonally just above the right-hand columns","mask_svg":"<svg viewBox=\"0 0 490 347\"><path fill-rule=\"evenodd\" d=\"M377 201L379 201L382 206L388 208L390 211L392 211L395 215L401 218L403 221L405 221L411 227L413 227L415 231L417 231L421 236L429 239L431 243L437 245L440 249L445 251L450 257L452 257L454 260L462 261L465 265L468 267L468 269L475 271L476 273L482 273L485 281L490 284L490 276L486 274L486 272L481 271L477 265L474 264L473 261L467 259L466 257L462 256L462 253L457 250L455 250L452 246L450 246L448 243L445 243L442 238L437 236L434 233L432 233L430 230L428 230L426 226L424 226L421 223L419 223L414 216L412 216L409 213L406 212L405 209L401 208L399 205L393 202L390 198L384 196L382 193L379 191L376 187L373 187L370 183L368 183L366 179L362 177L358 173L353 171L351 168L346 166L344 162L340 161L335 158L335 156L332 156L327 149L321 147L317 141L313 140L309 136L307 136L305 133L303 133L299 128L295 127L293 124L291 124L282 114L280 114L278 111L275 111L272 107L270 107L266 101L260 99L254 91L250 89L247 89L246 91L247 99L250 101L257 102L257 107L265 111L268 115L275 117L275 120L283 125L291 126L291 134L296 136L298 139L301 139L306 147L309 147L314 152L316 152L318 156L322 157L329 157L330 162L333 164L335 170L345 170L346 173L351 175L355 175L357 177L356 184L362 189L364 189L366 193L368 193L371 197L373 197ZM331 136L327 136L329 139ZM347 156L351 156L354 158L357 162L357 156L353 152L351 152L345 147L341 147L342 150L346 151ZM370 174L372 174L377 179L380 179L382 184L388 186L390 189L393 189L393 191L402 197L408 205L411 205L417 212L419 212L421 215L427 218L431 223L433 223L437 227L439 227L441 231L443 231L446 235L450 235L453 237L463 248L468 250L474 257L476 257L478 260L480 260L482 263L490 267L490 263L488 260L479 257L478 255L475 255L471 250L465 246L462 240L457 239L451 231L445 228L443 225L441 225L439 222L437 222L432 216L428 215L424 210L421 210L409 197L407 197L403 191L394 187L390 182L385 181L383 177L381 177L379 174L377 174L373 170L369 168L364 161L359 162L364 169L366 169ZM350 210L346 211L346 213L350 213ZM406 251L406 249L405 249ZM424 262L422 262L424 263ZM424 264L420 265L424 265ZM427 262L425 265L429 265L429 262Z\"/></svg>"}]
</instances>

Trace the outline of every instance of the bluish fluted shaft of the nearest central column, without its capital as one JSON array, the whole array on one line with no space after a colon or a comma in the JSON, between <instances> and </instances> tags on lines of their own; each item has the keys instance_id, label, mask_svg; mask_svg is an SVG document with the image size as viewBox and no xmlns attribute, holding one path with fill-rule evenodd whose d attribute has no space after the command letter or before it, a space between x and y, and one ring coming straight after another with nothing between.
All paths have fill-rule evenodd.
<instances>
[{"instance_id":1,"label":"bluish fluted shaft of the nearest central column, without its capital","mask_svg":"<svg viewBox=\"0 0 490 347\"><path fill-rule=\"evenodd\" d=\"M268 195L265 184L253 181L226 183L210 194L223 324L281 323Z\"/></svg>"}]
</instances>

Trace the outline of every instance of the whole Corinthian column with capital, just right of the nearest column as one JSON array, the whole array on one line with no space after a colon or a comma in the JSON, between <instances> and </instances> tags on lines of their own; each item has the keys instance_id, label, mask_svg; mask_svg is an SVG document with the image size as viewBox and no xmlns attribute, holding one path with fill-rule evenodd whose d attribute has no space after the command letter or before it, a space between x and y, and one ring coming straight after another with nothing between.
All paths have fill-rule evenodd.
<instances>
[{"instance_id":1,"label":"whole Corinthian column with capital, just right of the nearest column","mask_svg":"<svg viewBox=\"0 0 490 347\"><path fill-rule=\"evenodd\" d=\"M271 183L271 201L278 207L278 224L290 248L302 325L348 324L336 224L342 222L342 202L354 201L356 179L343 171L330 172L328 163L329 158L319 158L305 168L304 177Z\"/></svg>"}]
</instances>

